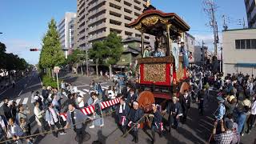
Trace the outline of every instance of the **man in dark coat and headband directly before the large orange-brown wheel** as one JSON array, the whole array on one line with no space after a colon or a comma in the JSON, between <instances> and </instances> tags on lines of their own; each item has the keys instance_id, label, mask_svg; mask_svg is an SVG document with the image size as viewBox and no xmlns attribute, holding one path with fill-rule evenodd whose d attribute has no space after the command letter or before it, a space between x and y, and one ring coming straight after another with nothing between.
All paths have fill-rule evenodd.
<instances>
[{"instance_id":1,"label":"man in dark coat and headband directly before the large orange-brown wheel","mask_svg":"<svg viewBox=\"0 0 256 144\"><path fill-rule=\"evenodd\" d=\"M138 102L134 101L133 102L133 109L130 110L130 114L128 115L128 126L134 128L132 130L132 136L133 140L132 142L138 143L138 129L140 127L140 122L142 122L142 117L143 117L143 110L138 108ZM140 122L138 122L141 120Z\"/></svg>"}]
</instances>

